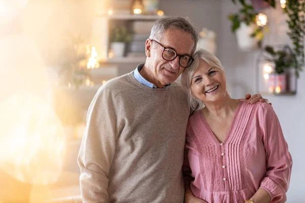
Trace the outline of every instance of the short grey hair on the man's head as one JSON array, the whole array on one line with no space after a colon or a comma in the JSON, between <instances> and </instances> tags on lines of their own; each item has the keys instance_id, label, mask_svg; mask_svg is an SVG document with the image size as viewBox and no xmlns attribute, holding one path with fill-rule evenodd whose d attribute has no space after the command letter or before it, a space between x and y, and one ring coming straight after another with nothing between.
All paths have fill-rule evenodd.
<instances>
[{"instance_id":1,"label":"short grey hair on the man's head","mask_svg":"<svg viewBox=\"0 0 305 203\"><path fill-rule=\"evenodd\" d=\"M178 16L167 16L158 19L157 22L154 24L153 28L151 28L149 39L160 41L163 33L169 28L185 31L192 36L194 40L194 47L192 51L193 54L197 47L198 35L194 25L190 23L188 18Z\"/></svg>"}]
</instances>

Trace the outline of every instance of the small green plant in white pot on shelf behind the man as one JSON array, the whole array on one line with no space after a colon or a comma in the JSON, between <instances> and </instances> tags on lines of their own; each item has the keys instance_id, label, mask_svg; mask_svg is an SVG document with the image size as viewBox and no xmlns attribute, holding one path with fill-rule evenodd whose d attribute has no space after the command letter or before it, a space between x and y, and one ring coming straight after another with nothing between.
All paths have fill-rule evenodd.
<instances>
[{"instance_id":1,"label":"small green plant in white pot on shelf behind the man","mask_svg":"<svg viewBox=\"0 0 305 203\"><path fill-rule=\"evenodd\" d=\"M123 57L126 43L130 41L130 35L125 26L115 26L111 30L110 49L115 57Z\"/></svg>"}]
</instances>

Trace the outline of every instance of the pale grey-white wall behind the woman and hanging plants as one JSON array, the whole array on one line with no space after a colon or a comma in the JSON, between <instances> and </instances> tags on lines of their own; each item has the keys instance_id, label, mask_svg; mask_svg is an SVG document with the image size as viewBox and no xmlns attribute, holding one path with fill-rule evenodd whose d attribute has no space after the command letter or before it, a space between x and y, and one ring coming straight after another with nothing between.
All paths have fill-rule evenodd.
<instances>
[{"instance_id":1,"label":"pale grey-white wall behind the woman and hanging plants","mask_svg":"<svg viewBox=\"0 0 305 203\"><path fill-rule=\"evenodd\" d=\"M236 11L236 6L231 1L221 1L221 32L219 56L226 69L231 95L235 98L242 97L246 93L255 91L255 60L259 51L240 52L237 48L235 35L230 30L230 21L227 19L229 13ZM268 26L270 32L267 34L264 44L290 44L286 35L287 25L285 15L280 6L277 10L268 9ZM295 96L272 96L263 95L268 98L275 109L285 139L289 145L289 151L293 158L292 175L290 187L287 193L287 202L305 202L305 168L304 143L305 136L303 125L305 124L305 73L300 74L298 80L298 91Z\"/></svg>"}]
</instances>

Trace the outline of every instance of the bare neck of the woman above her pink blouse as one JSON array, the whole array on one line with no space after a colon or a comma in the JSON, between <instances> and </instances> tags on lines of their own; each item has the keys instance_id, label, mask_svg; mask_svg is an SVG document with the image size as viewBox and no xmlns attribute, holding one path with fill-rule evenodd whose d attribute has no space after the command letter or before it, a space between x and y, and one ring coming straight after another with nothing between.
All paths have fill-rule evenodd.
<instances>
[{"instance_id":1,"label":"bare neck of the woman above her pink blouse","mask_svg":"<svg viewBox=\"0 0 305 203\"><path fill-rule=\"evenodd\" d=\"M238 103L238 99L233 99L226 93L221 100L205 103L205 108L203 108L202 111L205 116L227 118L234 114Z\"/></svg>"}]
</instances>

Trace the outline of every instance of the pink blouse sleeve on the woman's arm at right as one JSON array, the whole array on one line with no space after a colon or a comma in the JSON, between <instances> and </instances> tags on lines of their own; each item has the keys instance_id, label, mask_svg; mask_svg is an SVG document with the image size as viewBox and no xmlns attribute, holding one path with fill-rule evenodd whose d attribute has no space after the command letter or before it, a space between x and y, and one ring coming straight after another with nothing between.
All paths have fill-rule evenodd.
<instances>
[{"instance_id":1,"label":"pink blouse sleeve on the woman's arm at right","mask_svg":"<svg viewBox=\"0 0 305 203\"><path fill-rule=\"evenodd\" d=\"M270 202L285 202L290 182L292 157L279 119L272 107L269 104L263 104L259 110L259 116L268 167L260 187L270 194Z\"/></svg>"}]
</instances>

